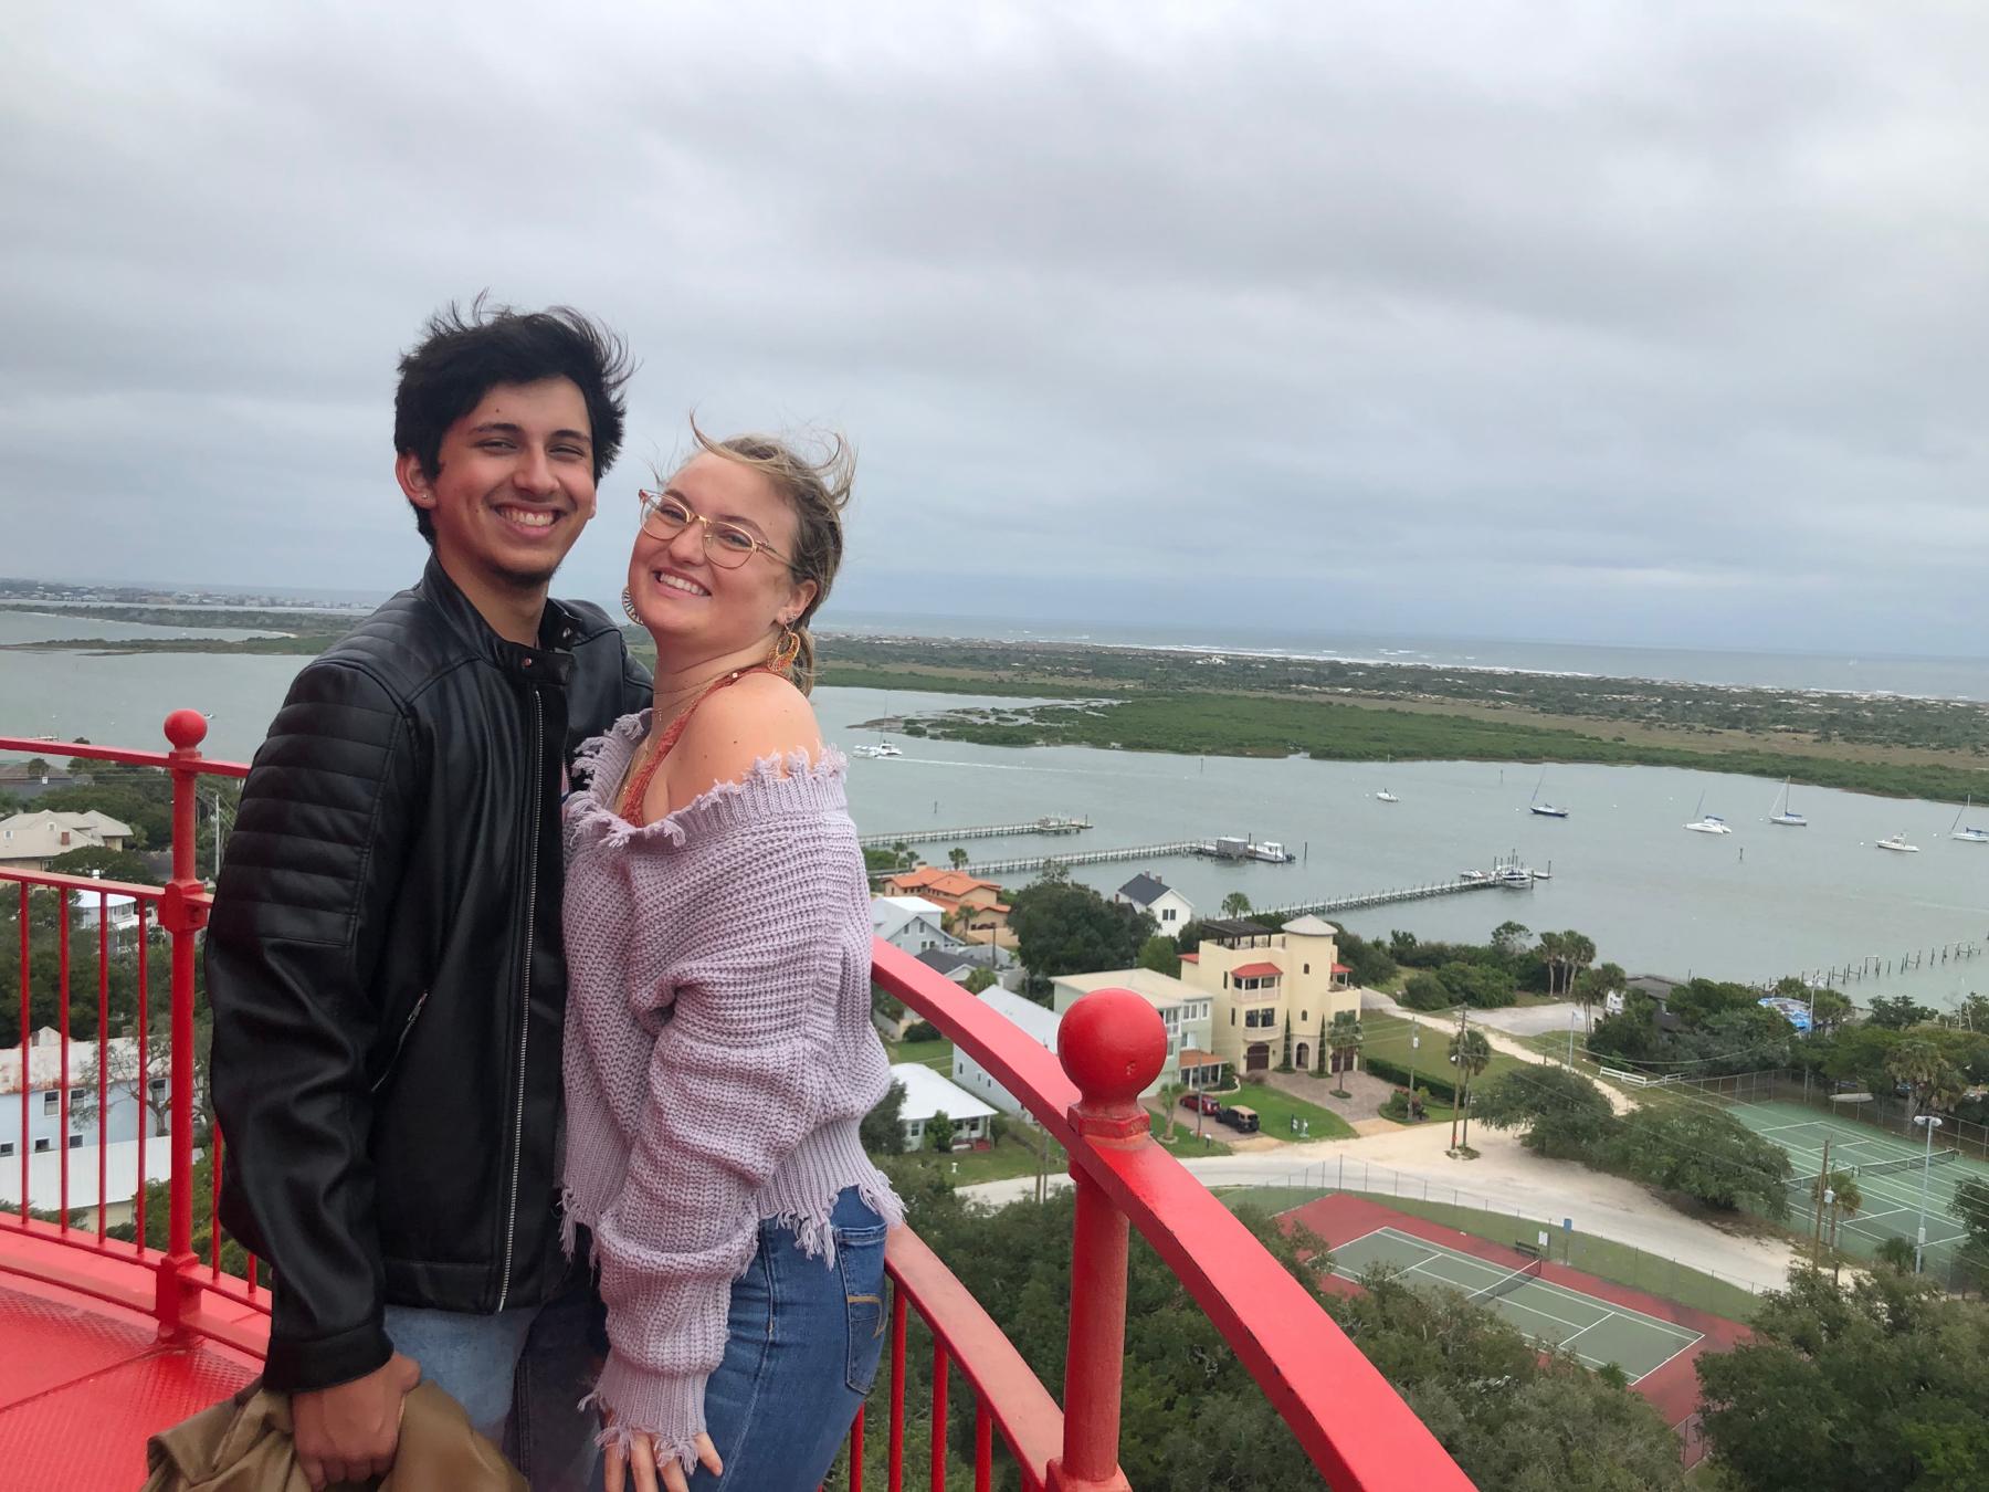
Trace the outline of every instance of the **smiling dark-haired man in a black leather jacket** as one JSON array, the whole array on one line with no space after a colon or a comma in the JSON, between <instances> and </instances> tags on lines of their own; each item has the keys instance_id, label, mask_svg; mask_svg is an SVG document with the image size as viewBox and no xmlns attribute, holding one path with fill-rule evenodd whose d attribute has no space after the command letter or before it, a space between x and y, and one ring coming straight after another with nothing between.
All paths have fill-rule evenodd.
<instances>
[{"instance_id":1,"label":"smiling dark-haired man in a black leather jacket","mask_svg":"<svg viewBox=\"0 0 1989 1492\"><path fill-rule=\"evenodd\" d=\"M298 674L243 788L207 933L221 1219L276 1271L267 1383L312 1486L392 1464L422 1375L535 1488L593 1460L553 1206L559 798L650 684L547 591L627 378L573 310L428 324L394 400L428 569Z\"/></svg>"}]
</instances>

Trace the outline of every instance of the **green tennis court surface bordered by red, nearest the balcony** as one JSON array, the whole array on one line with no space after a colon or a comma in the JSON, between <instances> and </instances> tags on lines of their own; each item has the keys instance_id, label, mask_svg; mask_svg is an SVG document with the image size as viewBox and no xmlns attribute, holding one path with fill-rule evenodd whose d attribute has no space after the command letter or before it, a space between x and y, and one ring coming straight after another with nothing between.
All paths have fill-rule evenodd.
<instances>
[{"instance_id":1,"label":"green tennis court surface bordered by red, nearest the balcony","mask_svg":"<svg viewBox=\"0 0 1989 1492\"><path fill-rule=\"evenodd\" d=\"M1446 1249L1392 1227L1376 1227L1333 1245L1333 1273L1358 1281L1374 1265L1388 1265L1414 1287L1446 1287L1476 1295L1528 1337L1565 1347L1591 1369L1615 1363L1631 1383L1649 1377L1679 1353L1691 1351L1701 1333L1583 1295L1567 1285L1504 1269L1470 1253ZM1480 1291L1484 1291L1480 1295Z\"/></svg>"}]
</instances>

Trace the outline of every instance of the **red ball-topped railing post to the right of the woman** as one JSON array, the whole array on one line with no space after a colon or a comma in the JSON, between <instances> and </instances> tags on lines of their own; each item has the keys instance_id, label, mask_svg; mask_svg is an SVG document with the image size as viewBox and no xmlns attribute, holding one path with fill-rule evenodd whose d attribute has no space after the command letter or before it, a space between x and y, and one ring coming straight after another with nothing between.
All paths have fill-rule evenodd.
<instances>
[{"instance_id":1,"label":"red ball-topped railing post to the right of the woman","mask_svg":"<svg viewBox=\"0 0 1989 1492\"><path fill-rule=\"evenodd\" d=\"M1140 1094L1168 1060L1160 1013L1132 991L1102 989L1064 1013L1056 1054L1082 1098L1070 1110L1078 1144L1154 1144ZM1050 1492L1130 1492L1118 1464L1126 1363L1126 1213L1072 1154L1078 1217L1070 1239L1070 1349L1064 1359L1064 1454Z\"/></svg>"}]
</instances>

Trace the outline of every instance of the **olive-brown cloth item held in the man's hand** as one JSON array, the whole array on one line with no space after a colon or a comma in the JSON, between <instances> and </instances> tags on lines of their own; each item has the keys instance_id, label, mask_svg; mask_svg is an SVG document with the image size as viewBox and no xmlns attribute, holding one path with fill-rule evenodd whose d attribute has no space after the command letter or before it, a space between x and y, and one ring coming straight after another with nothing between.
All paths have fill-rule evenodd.
<instances>
[{"instance_id":1,"label":"olive-brown cloth item held in the man's hand","mask_svg":"<svg viewBox=\"0 0 1989 1492\"><path fill-rule=\"evenodd\" d=\"M290 1446L290 1397L263 1381L145 1442L139 1492L310 1492ZM394 1470L336 1488L374 1492L527 1492L511 1462L469 1428L463 1406L432 1383L416 1385L400 1420Z\"/></svg>"}]
</instances>

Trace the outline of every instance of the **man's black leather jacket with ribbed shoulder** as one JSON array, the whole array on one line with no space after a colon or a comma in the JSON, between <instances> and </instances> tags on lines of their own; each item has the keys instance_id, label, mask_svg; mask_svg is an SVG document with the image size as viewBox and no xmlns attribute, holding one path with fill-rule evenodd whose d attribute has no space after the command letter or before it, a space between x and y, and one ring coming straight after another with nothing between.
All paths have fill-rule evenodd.
<instances>
[{"instance_id":1,"label":"man's black leather jacket with ribbed shoulder","mask_svg":"<svg viewBox=\"0 0 1989 1492\"><path fill-rule=\"evenodd\" d=\"M276 1271L267 1383L386 1363L386 1303L565 1281L553 1215L559 798L648 702L599 607L499 639L430 561L308 664L255 756L207 929L221 1219Z\"/></svg>"}]
</instances>

